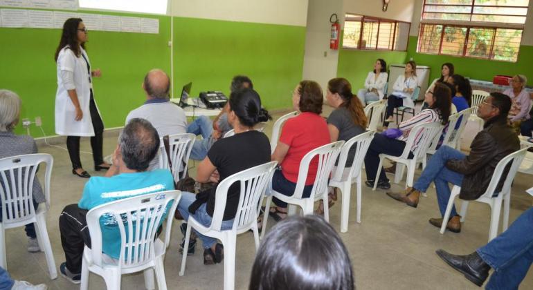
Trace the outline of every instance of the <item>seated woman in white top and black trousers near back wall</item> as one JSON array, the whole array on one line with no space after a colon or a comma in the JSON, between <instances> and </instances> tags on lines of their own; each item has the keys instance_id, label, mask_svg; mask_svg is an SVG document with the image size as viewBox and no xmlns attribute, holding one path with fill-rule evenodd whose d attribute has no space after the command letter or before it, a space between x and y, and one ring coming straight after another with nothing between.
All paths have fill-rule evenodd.
<instances>
[{"instance_id":1,"label":"seated woman in white top and black trousers near back wall","mask_svg":"<svg viewBox=\"0 0 533 290\"><path fill-rule=\"evenodd\" d=\"M411 99L415 88L418 86L417 64L415 61L407 61L404 75L400 75L392 87L392 95L388 97L387 111L383 126L388 126L392 122L394 109L400 106L415 108L415 103Z\"/></svg>"}]
</instances>

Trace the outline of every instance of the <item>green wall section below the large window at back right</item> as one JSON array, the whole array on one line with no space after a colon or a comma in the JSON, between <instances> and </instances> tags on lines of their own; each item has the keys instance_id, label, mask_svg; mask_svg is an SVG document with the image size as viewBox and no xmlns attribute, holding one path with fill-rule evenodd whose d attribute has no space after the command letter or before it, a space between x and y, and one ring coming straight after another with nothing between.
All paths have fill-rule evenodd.
<instances>
[{"instance_id":1,"label":"green wall section below the large window at back right","mask_svg":"<svg viewBox=\"0 0 533 290\"><path fill-rule=\"evenodd\" d=\"M471 79L492 81L494 75L523 74L527 79L533 80L533 46L520 46L518 61L490 61L487 59L474 59L471 57L453 57L450 55L427 55L417 53L418 37L409 37L407 57L413 57L417 64L431 67L431 77L440 77L440 67L445 62L455 66L455 72Z\"/></svg>"}]
</instances>

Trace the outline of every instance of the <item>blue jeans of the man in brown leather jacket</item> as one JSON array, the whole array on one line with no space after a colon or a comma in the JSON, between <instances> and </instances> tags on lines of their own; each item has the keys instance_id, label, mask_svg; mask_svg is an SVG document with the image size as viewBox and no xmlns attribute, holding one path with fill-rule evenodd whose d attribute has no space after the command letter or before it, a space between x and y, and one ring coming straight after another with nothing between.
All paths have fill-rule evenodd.
<instances>
[{"instance_id":1,"label":"blue jeans of the man in brown leather jacket","mask_svg":"<svg viewBox=\"0 0 533 290\"><path fill-rule=\"evenodd\" d=\"M444 216L446 213L446 206L450 199L451 191L449 183L454 185L461 185L464 175L451 171L446 168L446 161L448 160L463 160L467 155L464 155L458 150L455 150L449 146L441 146L431 159L429 160L426 168L422 171L422 175L413 184L413 188L418 191L426 192L429 184L435 182L437 188L437 202L439 203L440 214ZM451 208L451 217L457 215L455 206Z\"/></svg>"}]
</instances>

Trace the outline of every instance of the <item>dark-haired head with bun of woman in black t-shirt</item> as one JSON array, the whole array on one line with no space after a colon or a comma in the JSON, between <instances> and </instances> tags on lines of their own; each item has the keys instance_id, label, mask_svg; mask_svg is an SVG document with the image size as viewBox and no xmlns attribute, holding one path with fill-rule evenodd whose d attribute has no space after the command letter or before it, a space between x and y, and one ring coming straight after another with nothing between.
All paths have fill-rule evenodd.
<instances>
[{"instance_id":1,"label":"dark-haired head with bun of woman in black t-shirt","mask_svg":"<svg viewBox=\"0 0 533 290\"><path fill-rule=\"evenodd\" d=\"M272 117L261 108L261 97L251 88L234 90L230 95L230 110L235 112L243 126L253 127L259 122L266 122Z\"/></svg>"}]
</instances>

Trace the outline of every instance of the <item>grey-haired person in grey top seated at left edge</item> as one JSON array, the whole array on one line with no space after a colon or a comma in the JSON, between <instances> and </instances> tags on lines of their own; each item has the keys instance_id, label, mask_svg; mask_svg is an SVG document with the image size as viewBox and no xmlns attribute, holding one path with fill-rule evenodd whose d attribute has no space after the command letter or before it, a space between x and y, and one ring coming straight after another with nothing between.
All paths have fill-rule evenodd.
<instances>
[{"instance_id":1,"label":"grey-haired person in grey top seated at left edge","mask_svg":"<svg viewBox=\"0 0 533 290\"><path fill-rule=\"evenodd\" d=\"M37 153L37 144L32 137L13 133L13 129L19 123L20 104L20 98L16 93L10 90L0 90L0 159ZM0 185L3 187L3 184ZM35 206L35 210L41 202L45 202L44 193L39 180L35 178L33 182L33 206ZM0 209L1 206L2 204L0 204ZM1 220L2 215L0 214ZM33 224L26 224L26 235L28 236L28 252L40 251Z\"/></svg>"}]
</instances>

